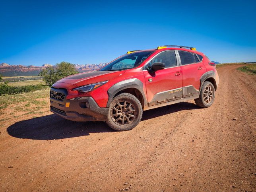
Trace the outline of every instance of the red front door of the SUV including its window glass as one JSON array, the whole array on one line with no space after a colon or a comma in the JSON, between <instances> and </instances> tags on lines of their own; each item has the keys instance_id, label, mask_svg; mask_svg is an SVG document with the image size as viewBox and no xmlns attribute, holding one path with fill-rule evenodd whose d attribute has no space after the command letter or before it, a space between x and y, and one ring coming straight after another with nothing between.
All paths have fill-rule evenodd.
<instances>
[{"instance_id":1,"label":"red front door of the SUV including its window glass","mask_svg":"<svg viewBox=\"0 0 256 192\"><path fill-rule=\"evenodd\" d=\"M163 70L151 71L155 62L165 63ZM148 106L181 99L182 73L177 64L175 50L165 50L154 56L144 66L145 86L147 90Z\"/></svg>"}]
</instances>

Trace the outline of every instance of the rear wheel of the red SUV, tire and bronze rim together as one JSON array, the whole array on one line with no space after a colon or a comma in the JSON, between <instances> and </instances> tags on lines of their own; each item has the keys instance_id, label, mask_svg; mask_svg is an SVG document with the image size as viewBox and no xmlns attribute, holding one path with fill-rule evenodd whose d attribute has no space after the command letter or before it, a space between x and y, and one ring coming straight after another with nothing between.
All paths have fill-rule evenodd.
<instances>
[{"instance_id":1,"label":"rear wheel of the red SUV, tire and bronze rim together","mask_svg":"<svg viewBox=\"0 0 256 192\"><path fill-rule=\"evenodd\" d=\"M201 87L199 98L195 99L196 105L199 107L210 107L215 98L215 89L211 82L205 81Z\"/></svg>"}]
</instances>

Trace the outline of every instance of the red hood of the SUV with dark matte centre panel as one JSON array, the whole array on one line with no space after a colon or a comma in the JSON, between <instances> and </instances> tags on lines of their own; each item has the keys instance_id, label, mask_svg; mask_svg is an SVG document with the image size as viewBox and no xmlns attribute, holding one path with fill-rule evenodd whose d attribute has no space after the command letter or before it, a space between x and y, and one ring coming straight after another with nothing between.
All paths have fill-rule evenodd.
<instances>
[{"instance_id":1,"label":"red hood of the SUV with dark matte centre panel","mask_svg":"<svg viewBox=\"0 0 256 192\"><path fill-rule=\"evenodd\" d=\"M83 85L89 85L91 83L98 83L101 81L111 80L117 76L120 76L125 71L92 71L92 72L84 72L72 76L68 76L66 78L62 78L61 80L54 83L53 87L59 88L66 88L60 87L61 85L72 84L72 88L80 87Z\"/></svg>"}]
</instances>

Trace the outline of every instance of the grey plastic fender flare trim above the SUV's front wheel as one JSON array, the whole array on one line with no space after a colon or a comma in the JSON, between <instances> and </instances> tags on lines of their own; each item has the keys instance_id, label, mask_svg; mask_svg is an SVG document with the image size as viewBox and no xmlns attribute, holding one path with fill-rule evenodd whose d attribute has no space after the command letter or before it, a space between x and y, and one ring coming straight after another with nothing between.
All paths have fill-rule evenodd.
<instances>
[{"instance_id":1,"label":"grey plastic fender flare trim above the SUV's front wheel","mask_svg":"<svg viewBox=\"0 0 256 192\"><path fill-rule=\"evenodd\" d=\"M142 81L138 80L137 78L133 78L133 79L120 81L120 82L112 85L112 87L109 88L109 90L108 90L109 100L107 102L107 107L110 106L110 103L111 103L112 99L114 98L114 95L116 95L116 93L118 93L119 91L122 91L124 89L128 89L128 88L138 89L140 91L140 93L142 94L142 97L144 100L144 106L147 106L147 98L145 97L145 93L143 90L143 83L142 83ZM142 107L144 108L144 106L142 106Z\"/></svg>"}]
</instances>

